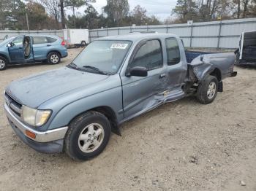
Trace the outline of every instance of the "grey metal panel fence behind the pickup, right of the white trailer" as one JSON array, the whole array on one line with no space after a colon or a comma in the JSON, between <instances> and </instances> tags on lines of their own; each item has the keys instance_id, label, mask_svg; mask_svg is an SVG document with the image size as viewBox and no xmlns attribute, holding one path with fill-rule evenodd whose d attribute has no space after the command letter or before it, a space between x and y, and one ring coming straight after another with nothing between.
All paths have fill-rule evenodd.
<instances>
[{"instance_id":1,"label":"grey metal panel fence behind the pickup, right of the white trailer","mask_svg":"<svg viewBox=\"0 0 256 191\"><path fill-rule=\"evenodd\" d=\"M234 49L238 47L243 31L256 30L256 18L222 20L203 23L101 28L90 30L90 39L102 36L130 34L136 31L157 31L181 36L185 47L207 47L214 49Z\"/></svg>"}]
</instances>

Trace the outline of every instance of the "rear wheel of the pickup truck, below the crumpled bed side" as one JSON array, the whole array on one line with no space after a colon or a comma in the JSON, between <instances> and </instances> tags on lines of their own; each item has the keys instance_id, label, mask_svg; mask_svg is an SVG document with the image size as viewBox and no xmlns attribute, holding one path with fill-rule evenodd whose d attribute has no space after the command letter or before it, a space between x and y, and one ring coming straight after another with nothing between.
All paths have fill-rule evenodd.
<instances>
[{"instance_id":1,"label":"rear wheel of the pickup truck, below the crumpled bed side","mask_svg":"<svg viewBox=\"0 0 256 191\"><path fill-rule=\"evenodd\" d=\"M218 93L217 77L208 75L197 88L197 100L201 104L211 104Z\"/></svg>"}]
</instances>

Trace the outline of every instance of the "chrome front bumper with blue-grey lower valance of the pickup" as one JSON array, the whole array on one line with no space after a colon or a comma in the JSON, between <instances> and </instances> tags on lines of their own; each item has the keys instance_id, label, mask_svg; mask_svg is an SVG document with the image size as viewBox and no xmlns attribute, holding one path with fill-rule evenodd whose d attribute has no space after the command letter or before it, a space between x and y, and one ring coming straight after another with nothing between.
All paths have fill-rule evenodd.
<instances>
[{"instance_id":1,"label":"chrome front bumper with blue-grey lower valance of the pickup","mask_svg":"<svg viewBox=\"0 0 256 191\"><path fill-rule=\"evenodd\" d=\"M18 117L11 111L7 104L4 104L4 111L15 133L30 147L38 152L55 153L62 152L64 144L64 136L67 133L68 127L56 128L53 130L38 131L34 128L23 124L18 120ZM26 130L36 135L35 139L26 136Z\"/></svg>"}]
</instances>

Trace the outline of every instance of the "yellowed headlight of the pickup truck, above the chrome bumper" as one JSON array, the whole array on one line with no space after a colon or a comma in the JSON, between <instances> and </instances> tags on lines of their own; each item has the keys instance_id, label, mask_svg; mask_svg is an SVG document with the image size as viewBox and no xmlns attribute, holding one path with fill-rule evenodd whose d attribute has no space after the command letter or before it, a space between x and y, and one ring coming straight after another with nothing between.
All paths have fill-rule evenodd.
<instances>
[{"instance_id":1,"label":"yellowed headlight of the pickup truck, above the chrome bumper","mask_svg":"<svg viewBox=\"0 0 256 191\"><path fill-rule=\"evenodd\" d=\"M32 126L45 125L50 117L50 110L37 110L28 106L22 106L21 117L24 122Z\"/></svg>"}]
</instances>

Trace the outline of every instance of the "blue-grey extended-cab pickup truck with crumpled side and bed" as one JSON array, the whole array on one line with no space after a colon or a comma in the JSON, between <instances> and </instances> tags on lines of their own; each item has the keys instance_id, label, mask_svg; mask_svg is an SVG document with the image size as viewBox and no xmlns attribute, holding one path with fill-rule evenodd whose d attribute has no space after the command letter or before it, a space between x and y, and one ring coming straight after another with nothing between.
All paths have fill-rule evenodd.
<instances>
[{"instance_id":1,"label":"blue-grey extended-cab pickup truck with crumpled side and bed","mask_svg":"<svg viewBox=\"0 0 256 191\"><path fill-rule=\"evenodd\" d=\"M11 82L4 110L30 147L88 160L105 149L111 131L121 135L121 123L188 95L210 104L222 80L236 76L233 53L194 55L187 63L173 34L103 37L67 66Z\"/></svg>"}]
</instances>

